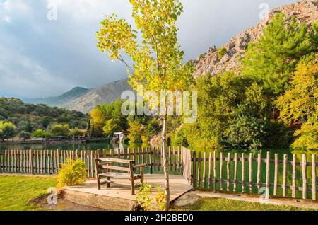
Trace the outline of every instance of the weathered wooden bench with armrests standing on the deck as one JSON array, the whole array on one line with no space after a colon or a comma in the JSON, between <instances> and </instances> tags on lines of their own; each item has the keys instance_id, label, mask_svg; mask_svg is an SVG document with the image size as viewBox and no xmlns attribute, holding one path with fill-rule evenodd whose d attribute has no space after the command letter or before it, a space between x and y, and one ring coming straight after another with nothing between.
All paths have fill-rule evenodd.
<instances>
[{"instance_id":1,"label":"weathered wooden bench with armrests standing on the deck","mask_svg":"<svg viewBox=\"0 0 318 225\"><path fill-rule=\"evenodd\" d=\"M143 173L145 166L145 164L135 166L133 160L119 158L96 158L95 170L96 178L98 180L98 190L100 190L100 185L102 184L107 184L107 188L110 188L110 184L114 183L111 178L128 179L131 181L131 195L135 195L135 188L140 187L140 183L143 183ZM135 172L138 168L140 169L140 174L137 175ZM107 180L101 182L102 178L107 178ZM135 180L140 180L140 183L136 184Z\"/></svg>"}]
</instances>

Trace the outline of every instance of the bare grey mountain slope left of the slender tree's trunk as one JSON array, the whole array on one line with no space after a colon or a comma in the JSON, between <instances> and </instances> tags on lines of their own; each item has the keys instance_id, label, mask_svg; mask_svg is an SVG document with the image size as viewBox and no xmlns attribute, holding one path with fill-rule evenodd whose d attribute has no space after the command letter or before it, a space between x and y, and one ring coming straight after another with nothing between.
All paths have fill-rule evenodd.
<instances>
[{"instance_id":1,"label":"bare grey mountain slope left of the slender tree's trunk","mask_svg":"<svg viewBox=\"0 0 318 225\"><path fill-rule=\"evenodd\" d=\"M90 113L95 105L112 103L117 100L117 98L120 98L122 92L126 90L131 90L128 79L114 81L98 88L93 88L82 96L69 101L64 107L82 113Z\"/></svg>"}]
</instances>

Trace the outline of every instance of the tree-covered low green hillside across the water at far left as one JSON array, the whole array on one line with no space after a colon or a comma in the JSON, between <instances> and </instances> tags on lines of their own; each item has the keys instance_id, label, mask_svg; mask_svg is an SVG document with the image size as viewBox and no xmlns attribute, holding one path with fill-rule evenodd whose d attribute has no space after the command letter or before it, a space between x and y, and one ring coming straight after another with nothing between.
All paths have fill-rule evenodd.
<instances>
[{"instance_id":1,"label":"tree-covered low green hillside across the water at far left","mask_svg":"<svg viewBox=\"0 0 318 225\"><path fill-rule=\"evenodd\" d=\"M77 111L25 104L18 98L0 98L0 141L17 135L31 137L78 137L86 129L88 115Z\"/></svg>"}]
</instances>

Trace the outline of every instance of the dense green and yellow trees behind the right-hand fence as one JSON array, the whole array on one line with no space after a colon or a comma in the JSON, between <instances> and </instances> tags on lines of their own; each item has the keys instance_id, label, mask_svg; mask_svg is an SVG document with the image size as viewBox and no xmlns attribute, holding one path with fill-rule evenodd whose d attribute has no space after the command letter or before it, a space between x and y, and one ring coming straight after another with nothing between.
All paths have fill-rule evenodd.
<instances>
[{"instance_id":1,"label":"dense green and yellow trees behind the right-hand fence","mask_svg":"<svg viewBox=\"0 0 318 225\"><path fill-rule=\"evenodd\" d=\"M194 149L318 149L318 22L278 13L241 60L241 73L196 81L199 118L175 144Z\"/></svg>"}]
</instances>

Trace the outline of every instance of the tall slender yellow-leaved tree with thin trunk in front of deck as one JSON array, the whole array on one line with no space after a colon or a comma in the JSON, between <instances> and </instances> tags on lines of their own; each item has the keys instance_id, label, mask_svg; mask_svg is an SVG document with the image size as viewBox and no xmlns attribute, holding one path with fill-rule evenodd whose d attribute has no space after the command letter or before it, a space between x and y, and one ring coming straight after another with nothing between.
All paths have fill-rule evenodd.
<instances>
[{"instance_id":1,"label":"tall slender yellow-leaved tree with thin trunk in front of deck","mask_svg":"<svg viewBox=\"0 0 318 225\"><path fill-rule=\"evenodd\" d=\"M115 14L106 16L97 33L98 47L110 59L124 63L129 83L134 90L184 91L192 83L194 67L182 64L184 52L177 42L178 16L183 11L179 0L130 0L136 29ZM137 37L140 35L140 37ZM129 64L129 59L133 64ZM162 149L165 174L166 210L169 209L170 189L167 166L167 101L160 114L163 120Z\"/></svg>"}]
</instances>

